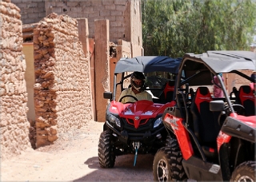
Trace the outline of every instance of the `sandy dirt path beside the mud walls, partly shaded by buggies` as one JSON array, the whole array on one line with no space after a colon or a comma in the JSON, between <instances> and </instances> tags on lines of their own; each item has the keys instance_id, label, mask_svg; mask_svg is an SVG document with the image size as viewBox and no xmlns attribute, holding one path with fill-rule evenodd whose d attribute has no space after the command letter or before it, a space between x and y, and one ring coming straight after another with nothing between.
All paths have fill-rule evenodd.
<instances>
[{"instance_id":1,"label":"sandy dirt path beside the mud walls, partly shaded by buggies","mask_svg":"<svg viewBox=\"0 0 256 182\"><path fill-rule=\"evenodd\" d=\"M153 155L118 156L114 168L100 168L102 122L62 134L52 145L1 161L1 181L153 181Z\"/></svg>"}]
</instances>

